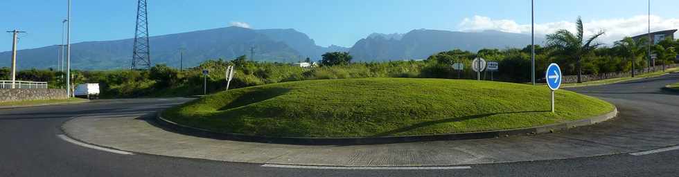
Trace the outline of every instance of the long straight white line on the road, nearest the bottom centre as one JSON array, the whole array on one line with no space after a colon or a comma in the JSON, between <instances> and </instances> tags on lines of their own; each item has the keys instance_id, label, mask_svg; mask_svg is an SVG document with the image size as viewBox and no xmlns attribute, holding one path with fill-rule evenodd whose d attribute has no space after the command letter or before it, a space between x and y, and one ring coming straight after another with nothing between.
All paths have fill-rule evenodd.
<instances>
[{"instance_id":1,"label":"long straight white line on the road, nearest the bottom centre","mask_svg":"<svg viewBox=\"0 0 679 177\"><path fill-rule=\"evenodd\" d=\"M262 167L288 168L288 169L364 169L364 170L427 170L427 169L471 169L469 166L438 166L438 167L337 167L337 166L313 166L313 165L277 165L265 164Z\"/></svg>"}]
</instances>

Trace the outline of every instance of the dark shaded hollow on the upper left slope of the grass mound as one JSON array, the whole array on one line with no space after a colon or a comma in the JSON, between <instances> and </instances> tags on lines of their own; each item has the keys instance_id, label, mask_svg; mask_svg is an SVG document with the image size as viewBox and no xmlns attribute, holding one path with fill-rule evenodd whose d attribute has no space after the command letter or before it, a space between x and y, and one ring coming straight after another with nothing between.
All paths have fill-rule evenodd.
<instances>
[{"instance_id":1,"label":"dark shaded hollow on the upper left slope of the grass mound","mask_svg":"<svg viewBox=\"0 0 679 177\"><path fill-rule=\"evenodd\" d=\"M251 91L243 95L239 95L229 104L222 106L219 111L234 109L240 106L247 106L248 104L254 104L256 102L263 102L288 92L290 92L290 88L265 88L263 90Z\"/></svg>"}]
</instances>

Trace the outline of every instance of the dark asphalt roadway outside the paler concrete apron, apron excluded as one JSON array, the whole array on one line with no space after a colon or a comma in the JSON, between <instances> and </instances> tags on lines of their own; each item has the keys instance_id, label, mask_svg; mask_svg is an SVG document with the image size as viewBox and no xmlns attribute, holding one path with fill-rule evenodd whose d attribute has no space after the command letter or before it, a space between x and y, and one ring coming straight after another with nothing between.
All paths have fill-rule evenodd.
<instances>
[{"instance_id":1,"label":"dark asphalt roadway outside the paler concrete apron, apron excluded","mask_svg":"<svg viewBox=\"0 0 679 177\"><path fill-rule=\"evenodd\" d=\"M679 74L633 82L570 88L618 106L610 123L561 132L633 132L679 126L679 95L661 91ZM0 109L0 176L678 176L679 150L644 156L617 154L566 160L469 165L471 169L288 169L262 164L121 155L66 142L61 125L83 115L143 115L186 99L96 100L86 104ZM660 119L662 118L662 119ZM653 121L644 121L653 120ZM658 121L656 121L658 120ZM662 121L660 121L662 120ZM663 136L664 135L658 135ZM667 136L675 138L677 135Z\"/></svg>"}]
</instances>

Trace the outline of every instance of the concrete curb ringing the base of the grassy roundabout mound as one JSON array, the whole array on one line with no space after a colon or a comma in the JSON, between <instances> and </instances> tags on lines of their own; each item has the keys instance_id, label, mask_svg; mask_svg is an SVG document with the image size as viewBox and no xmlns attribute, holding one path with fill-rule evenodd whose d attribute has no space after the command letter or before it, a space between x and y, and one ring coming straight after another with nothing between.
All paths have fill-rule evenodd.
<instances>
[{"instance_id":1,"label":"concrete curb ringing the base of the grassy roundabout mound","mask_svg":"<svg viewBox=\"0 0 679 177\"><path fill-rule=\"evenodd\" d=\"M182 124L177 124L167 120L161 116L161 112L157 113L156 119L159 125L168 131L175 131L189 136L198 136L202 138L213 138L218 140L238 140L245 142L265 142L274 144L288 144L288 145L376 145L389 144L398 142L423 142L423 141L439 141L439 140L470 140L470 139L484 139L484 138L500 138L509 136L526 136L540 133L552 133L564 129L574 127L582 127L591 124L597 124L617 116L618 110L614 107L613 111L609 113L586 118L583 120L575 120L571 122L563 122L558 124L548 124L540 127L531 127L523 129L509 129L500 131L482 131L472 133L447 133L438 135L425 136L383 136L383 137L358 137L358 138L301 138L301 137L267 137L267 136L248 136L239 133L220 133L206 129L195 127L188 127Z\"/></svg>"}]
</instances>

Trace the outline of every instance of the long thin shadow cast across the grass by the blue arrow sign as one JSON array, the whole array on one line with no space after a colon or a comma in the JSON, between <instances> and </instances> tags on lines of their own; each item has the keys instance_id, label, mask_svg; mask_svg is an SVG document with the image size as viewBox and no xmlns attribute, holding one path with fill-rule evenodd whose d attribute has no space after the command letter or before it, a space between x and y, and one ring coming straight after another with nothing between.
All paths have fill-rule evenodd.
<instances>
[{"instance_id":1,"label":"long thin shadow cast across the grass by the blue arrow sign","mask_svg":"<svg viewBox=\"0 0 679 177\"><path fill-rule=\"evenodd\" d=\"M517 111L517 112L506 112L506 113L545 113L545 112L549 112L549 111ZM428 121L428 122L420 122L420 123L417 123L417 124L409 125L407 127L401 127L401 128L394 129L394 130L391 130L391 131L378 133L375 136L393 136L396 133L403 133L403 132L406 132L406 131L411 131L411 130L419 129L419 128L422 128L422 127L429 127L429 126L432 126L432 125L435 125L435 124L442 124L442 123L448 123L448 122L461 122L461 121L464 121L464 120L470 120L470 119L476 119L476 118L485 118L485 117L492 116L492 115L500 115L500 114L506 114L506 113L486 113L486 114L479 114L479 115L469 115L469 116L460 117L460 118L448 118L448 119L442 119L442 120L432 120L432 121Z\"/></svg>"}]
</instances>

